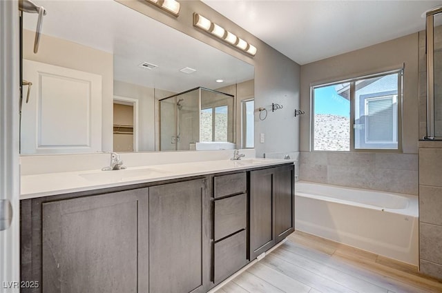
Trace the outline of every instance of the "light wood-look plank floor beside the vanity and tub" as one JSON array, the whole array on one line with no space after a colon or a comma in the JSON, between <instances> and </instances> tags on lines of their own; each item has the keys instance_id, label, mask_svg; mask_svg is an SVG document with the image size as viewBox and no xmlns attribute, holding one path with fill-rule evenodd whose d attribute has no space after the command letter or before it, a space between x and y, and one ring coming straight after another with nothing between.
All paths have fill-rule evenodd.
<instances>
[{"instance_id":1,"label":"light wood-look plank floor beside the vanity and tub","mask_svg":"<svg viewBox=\"0 0 442 293\"><path fill-rule=\"evenodd\" d=\"M383 256L294 232L217 293L442 292L442 281Z\"/></svg>"}]
</instances>

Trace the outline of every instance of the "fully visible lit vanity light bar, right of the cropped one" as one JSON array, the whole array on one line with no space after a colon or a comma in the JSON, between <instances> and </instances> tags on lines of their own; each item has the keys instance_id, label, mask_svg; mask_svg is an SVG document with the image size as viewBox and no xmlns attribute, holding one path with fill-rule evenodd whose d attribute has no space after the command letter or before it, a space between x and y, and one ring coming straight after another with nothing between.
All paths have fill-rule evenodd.
<instances>
[{"instance_id":1,"label":"fully visible lit vanity light bar, right of the cropped one","mask_svg":"<svg viewBox=\"0 0 442 293\"><path fill-rule=\"evenodd\" d=\"M244 41L239 37L236 37L236 35L232 32L224 30L224 28L218 26L218 24L213 23L209 19L206 19L206 17L203 17L201 14L198 14L196 12L193 12L193 26L200 28L205 32L213 34L215 37L222 39L232 46L235 46L236 48L243 50L248 54L251 54L251 56L255 56L256 54L257 49L255 46L247 43L247 41Z\"/></svg>"}]
</instances>

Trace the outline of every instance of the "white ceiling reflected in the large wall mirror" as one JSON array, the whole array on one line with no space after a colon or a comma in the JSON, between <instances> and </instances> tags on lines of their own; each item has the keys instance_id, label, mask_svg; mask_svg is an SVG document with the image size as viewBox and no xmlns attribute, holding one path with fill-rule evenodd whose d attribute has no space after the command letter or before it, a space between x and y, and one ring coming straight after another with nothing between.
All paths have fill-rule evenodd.
<instances>
[{"instance_id":1,"label":"white ceiling reflected in the large wall mirror","mask_svg":"<svg viewBox=\"0 0 442 293\"><path fill-rule=\"evenodd\" d=\"M253 65L116 1L34 2L48 12L43 21L43 34L112 53L115 80L183 92L198 86L222 88L253 79ZM36 26L37 14L24 14L23 27L35 31ZM40 46L40 50L42 48L44 46ZM144 61L158 67L140 68L138 65ZM185 67L197 71L192 74L179 71ZM224 82L216 83L216 79Z\"/></svg>"}]
</instances>

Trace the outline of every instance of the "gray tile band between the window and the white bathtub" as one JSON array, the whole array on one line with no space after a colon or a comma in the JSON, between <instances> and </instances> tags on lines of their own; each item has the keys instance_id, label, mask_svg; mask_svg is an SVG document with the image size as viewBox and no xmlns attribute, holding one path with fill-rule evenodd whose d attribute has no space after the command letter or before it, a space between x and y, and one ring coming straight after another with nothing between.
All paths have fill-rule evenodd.
<instances>
[{"instance_id":1,"label":"gray tile band between the window and the white bathtub","mask_svg":"<svg viewBox=\"0 0 442 293\"><path fill-rule=\"evenodd\" d=\"M418 155L300 152L300 180L418 194Z\"/></svg>"}]
</instances>

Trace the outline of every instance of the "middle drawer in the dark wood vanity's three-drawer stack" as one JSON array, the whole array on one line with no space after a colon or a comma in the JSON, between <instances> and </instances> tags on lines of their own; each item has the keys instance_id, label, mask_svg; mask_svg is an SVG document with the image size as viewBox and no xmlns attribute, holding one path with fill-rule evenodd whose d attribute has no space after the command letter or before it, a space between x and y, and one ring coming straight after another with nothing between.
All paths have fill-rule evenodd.
<instances>
[{"instance_id":1,"label":"middle drawer in the dark wood vanity's three-drawer stack","mask_svg":"<svg viewBox=\"0 0 442 293\"><path fill-rule=\"evenodd\" d=\"M247 225L247 194L215 201L215 241L229 236Z\"/></svg>"}]
</instances>

